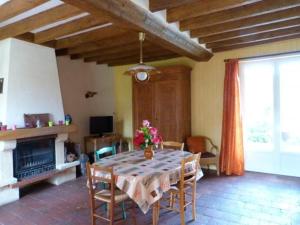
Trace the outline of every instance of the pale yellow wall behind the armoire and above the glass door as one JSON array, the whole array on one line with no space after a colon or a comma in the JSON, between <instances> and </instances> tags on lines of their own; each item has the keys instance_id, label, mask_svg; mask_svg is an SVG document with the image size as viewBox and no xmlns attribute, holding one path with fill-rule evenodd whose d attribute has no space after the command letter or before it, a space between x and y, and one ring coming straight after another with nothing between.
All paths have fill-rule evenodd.
<instances>
[{"instance_id":1,"label":"pale yellow wall behind the armoire and above the glass door","mask_svg":"<svg viewBox=\"0 0 300 225\"><path fill-rule=\"evenodd\" d=\"M184 64L193 68L191 77L192 134L209 136L220 146L223 110L224 59L259 56L300 50L300 39L275 42L233 51L216 53L209 62L187 58L158 61L154 66ZM123 72L129 66L114 67L116 118L123 121L123 135L132 137L131 78Z\"/></svg>"}]
</instances>

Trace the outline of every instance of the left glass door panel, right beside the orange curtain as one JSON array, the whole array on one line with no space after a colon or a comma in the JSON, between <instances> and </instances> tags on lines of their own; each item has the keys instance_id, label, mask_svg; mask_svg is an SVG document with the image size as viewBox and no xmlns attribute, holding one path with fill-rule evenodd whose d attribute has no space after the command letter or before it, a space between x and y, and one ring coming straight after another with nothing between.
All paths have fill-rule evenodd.
<instances>
[{"instance_id":1,"label":"left glass door panel, right beside the orange curtain","mask_svg":"<svg viewBox=\"0 0 300 225\"><path fill-rule=\"evenodd\" d=\"M241 64L245 168L271 173L279 163L275 149L274 66L272 62Z\"/></svg>"}]
</instances>

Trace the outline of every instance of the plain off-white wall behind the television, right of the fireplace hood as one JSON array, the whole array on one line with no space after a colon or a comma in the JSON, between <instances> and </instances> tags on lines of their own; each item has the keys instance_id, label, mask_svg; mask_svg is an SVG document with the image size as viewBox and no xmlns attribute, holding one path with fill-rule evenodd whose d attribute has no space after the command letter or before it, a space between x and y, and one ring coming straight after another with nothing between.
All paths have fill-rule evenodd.
<instances>
[{"instance_id":1,"label":"plain off-white wall behind the television, right of the fireplace hood","mask_svg":"<svg viewBox=\"0 0 300 225\"><path fill-rule=\"evenodd\" d=\"M114 115L114 82L112 69L106 65L84 63L57 57L63 104L79 131L70 134L72 141L81 143L89 135L89 117ZM98 92L92 98L85 98L87 91Z\"/></svg>"}]
</instances>

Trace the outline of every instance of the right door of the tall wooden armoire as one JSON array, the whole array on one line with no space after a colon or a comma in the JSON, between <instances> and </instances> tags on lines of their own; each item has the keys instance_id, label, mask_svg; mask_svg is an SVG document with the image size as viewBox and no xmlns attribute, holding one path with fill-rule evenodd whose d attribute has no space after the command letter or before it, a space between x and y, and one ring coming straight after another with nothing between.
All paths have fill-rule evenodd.
<instances>
[{"instance_id":1,"label":"right door of the tall wooden armoire","mask_svg":"<svg viewBox=\"0 0 300 225\"><path fill-rule=\"evenodd\" d=\"M176 80L158 81L154 84L154 125L163 140L178 141L178 82Z\"/></svg>"}]
</instances>

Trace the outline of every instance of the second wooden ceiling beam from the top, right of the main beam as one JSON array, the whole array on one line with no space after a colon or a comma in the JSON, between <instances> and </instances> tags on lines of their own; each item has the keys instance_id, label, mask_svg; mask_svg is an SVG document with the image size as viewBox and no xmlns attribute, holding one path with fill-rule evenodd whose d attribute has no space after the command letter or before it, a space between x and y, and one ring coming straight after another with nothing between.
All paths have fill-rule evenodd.
<instances>
[{"instance_id":1,"label":"second wooden ceiling beam from the top, right of the main beam","mask_svg":"<svg viewBox=\"0 0 300 225\"><path fill-rule=\"evenodd\" d=\"M182 5L167 10L167 21L169 23L181 21L197 16L208 15L235 7L248 5L262 0L199 0L197 2Z\"/></svg>"}]
</instances>

